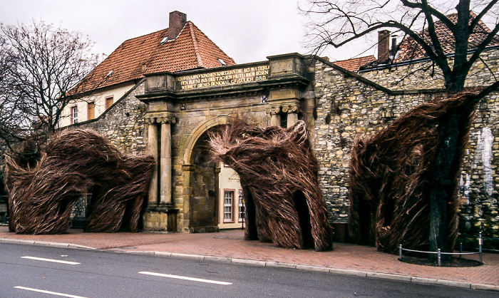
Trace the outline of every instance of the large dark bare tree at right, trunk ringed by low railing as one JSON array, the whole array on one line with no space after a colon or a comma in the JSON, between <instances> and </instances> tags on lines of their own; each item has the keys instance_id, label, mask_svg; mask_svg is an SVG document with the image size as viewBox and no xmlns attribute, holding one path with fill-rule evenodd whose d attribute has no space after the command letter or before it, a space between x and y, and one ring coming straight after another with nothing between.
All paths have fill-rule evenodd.
<instances>
[{"instance_id":1,"label":"large dark bare tree at right, trunk ringed by low railing","mask_svg":"<svg viewBox=\"0 0 499 298\"><path fill-rule=\"evenodd\" d=\"M403 36L405 50L430 58L433 66L441 70L448 93L458 93L465 90L465 79L480 54L487 46L498 43L498 6L498 0L309 0L301 4L301 9L312 19L308 36L315 53L328 46L338 48L380 29L392 29ZM483 26L484 21L491 24L490 29ZM440 29L450 32L452 38L444 39ZM449 59L449 53L453 59ZM448 233L448 202L456 189L453 181L461 166L458 140L463 131L458 123L465 121L465 115L475 109L481 98L499 88L497 78L493 73L490 76L493 80L489 86L471 96L462 111L453 111L439 125L446 137L438 147L438 170L431 177L433 251L453 249L452 243L443 239Z\"/></svg>"}]
</instances>

